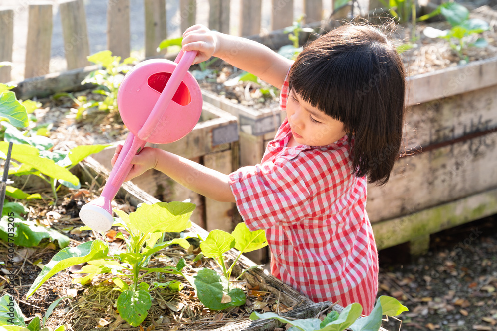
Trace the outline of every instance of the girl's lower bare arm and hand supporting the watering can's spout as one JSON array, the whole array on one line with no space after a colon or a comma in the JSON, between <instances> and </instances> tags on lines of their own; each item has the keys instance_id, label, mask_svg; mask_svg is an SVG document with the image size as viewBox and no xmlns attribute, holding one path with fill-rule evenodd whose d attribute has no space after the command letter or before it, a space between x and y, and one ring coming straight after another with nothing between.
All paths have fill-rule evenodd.
<instances>
[{"instance_id":1,"label":"girl's lower bare arm and hand supporting the watering can's spout","mask_svg":"<svg viewBox=\"0 0 497 331\"><path fill-rule=\"evenodd\" d=\"M112 158L112 166L116 162L121 149L122 145L119 145ZM165 150L145 147L140 151L140 154L133 157L131 164L133 164L133 168L131 168L126 177L126 181L143 174L148 169L154 168L165 173L187 189L207 198L221 202L235 202L228 175Z\"/></svg>"}]
</instances>

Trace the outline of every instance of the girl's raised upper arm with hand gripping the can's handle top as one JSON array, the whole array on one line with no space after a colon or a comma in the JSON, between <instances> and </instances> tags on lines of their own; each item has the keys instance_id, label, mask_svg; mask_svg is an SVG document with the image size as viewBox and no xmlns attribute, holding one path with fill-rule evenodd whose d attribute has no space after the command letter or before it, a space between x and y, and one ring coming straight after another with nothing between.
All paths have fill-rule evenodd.
<instances>
[{"instance_id":1,"label":"girl's raised upper arm with hand gripping the can's handle top","mask_svg":"<svg viewBox=\"0 0 497 331\"><path fill-rule=\"evenodd\" d=\"M283 85L292 65L292 61L265 45L247 38L211 31L200 24L186 29L182 45L185 51L199 51L194 63L215 56L278 88Z\"/></svg>"}]
</instances>

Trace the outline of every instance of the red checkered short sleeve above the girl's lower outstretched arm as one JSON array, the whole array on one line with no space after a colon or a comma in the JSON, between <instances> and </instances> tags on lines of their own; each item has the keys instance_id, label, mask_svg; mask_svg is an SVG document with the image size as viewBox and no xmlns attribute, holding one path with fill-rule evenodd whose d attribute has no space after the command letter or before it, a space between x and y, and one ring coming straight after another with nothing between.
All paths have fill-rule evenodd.
<instances>
[{"instance_id":1,"label":"red checkered short sleeve above the girl's lower outstretched arm","mask_svg":"<svg viewBox=\"0 0 497 331\"><path fill-rule=\"evenodd\" d=\"M248 229L294 223L309 214L309 191L289 163L265 162L230 174L230 187Z\"/></svg>"}]
</instances>

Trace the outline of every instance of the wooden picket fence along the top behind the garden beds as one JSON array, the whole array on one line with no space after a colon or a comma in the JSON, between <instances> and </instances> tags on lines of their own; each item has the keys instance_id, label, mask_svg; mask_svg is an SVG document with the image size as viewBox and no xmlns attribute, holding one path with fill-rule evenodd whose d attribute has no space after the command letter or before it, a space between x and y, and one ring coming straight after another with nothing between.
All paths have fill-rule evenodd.
<instances>
[{"instance_id":1,"label":"wooden picket fence along the top behind the garden beds","mask_svg":"<svg viewBox=\"0 0 497 331\"><path fill-rule=\"evenodd\" d=\"M200 2L205 1L205 2ZM303 0L305 23L320 21L324 1ZM238 22L241 36L257 35L261 31L262 0L240 0L238 17L230 17L230 0L180 0L178 5L179 28L184 31L196 23L197 8L208 3L208 26L229 33L230 20ZM294 0L271 0L269 30L292 25ZM19 8L28 10L28 32L24 78L42 76L50 72L51 41L53 30L53 5L47 1L20 1ZM144 0L145 11L145 57L158 56L157 46L166 39L166 0ZM332 6L332 4L331 4ZM266 6L267 7L267 6ZM265 7L265 8L266 8ZM20 10L16 8L15 10ZM14 46L14 9L0 5L0 62L12 62ZM67 69L88 66L90 55L88 29L83 0L59 1L64 52ZM266 13L267 14L267 13ZM300 14L298 15L300 17ZM130 55L130 0L107 2L107 49L122 58ZM11 80L11 66L0 67L0 82Z\"/></svg>"}]
</instances>

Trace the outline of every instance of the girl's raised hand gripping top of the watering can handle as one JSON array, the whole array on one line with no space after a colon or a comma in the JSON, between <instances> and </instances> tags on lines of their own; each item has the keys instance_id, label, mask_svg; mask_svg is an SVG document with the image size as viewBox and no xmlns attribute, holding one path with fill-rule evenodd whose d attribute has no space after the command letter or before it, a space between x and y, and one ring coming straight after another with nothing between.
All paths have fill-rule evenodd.
<instances>
[{"instance_id":1,"label":"girl's raised hand gripping top of the watering can handle","mask_svg":"<svg viewBox=\"0 0 497 331\"><path fill-rule=\"evenodd\" d=\"M215 32L209 30L202 24L196 24L185 30L181 42L183 51L198 51L193 64L208 60L218 46L218 38Z\"/></svg>"}]
</instances>

